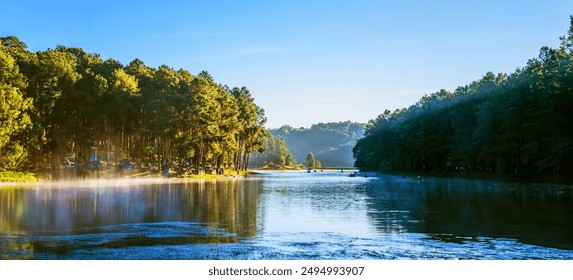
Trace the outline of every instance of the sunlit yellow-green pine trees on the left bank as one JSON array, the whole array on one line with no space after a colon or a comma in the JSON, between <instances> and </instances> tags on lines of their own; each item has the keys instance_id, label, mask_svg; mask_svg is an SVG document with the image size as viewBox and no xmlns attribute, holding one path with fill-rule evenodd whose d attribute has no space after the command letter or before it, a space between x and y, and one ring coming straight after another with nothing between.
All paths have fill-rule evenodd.
<instances>
[{"instance_id":1,"label":"sunlit yellow-green pine trees on the left bank","mask_svg":"<svg viewBox=\"0 0 573 280\"><path fill-rule=\"evenodd\" d=\"M246 88L0 38L0 170L120 161L246 169L266 118Z\"/></svg>"}]
</instances>

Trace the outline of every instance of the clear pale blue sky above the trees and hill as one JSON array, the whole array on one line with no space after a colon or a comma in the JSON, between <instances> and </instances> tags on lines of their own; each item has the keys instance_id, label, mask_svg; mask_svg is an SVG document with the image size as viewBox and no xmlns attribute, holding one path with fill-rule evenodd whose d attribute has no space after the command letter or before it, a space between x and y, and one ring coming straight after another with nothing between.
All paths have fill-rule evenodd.
<instances>
[{"instance_id":1,"label":"clear pale blue sky above the trees and hill","mask_svg":"<svg viewBox=\"0 0 573 280\"><path fill-rule=\"evenodd\" d=\"M367 122L557 47L571 0L2 1L0 36L246 86L268 127Z\"/></svg>"}]
</instances>

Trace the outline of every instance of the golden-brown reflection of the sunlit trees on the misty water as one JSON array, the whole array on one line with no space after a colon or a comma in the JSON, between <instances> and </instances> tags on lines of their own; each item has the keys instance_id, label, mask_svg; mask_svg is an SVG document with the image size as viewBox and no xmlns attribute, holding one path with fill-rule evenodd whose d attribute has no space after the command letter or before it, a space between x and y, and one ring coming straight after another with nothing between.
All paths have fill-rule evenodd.
<instances>
[{"instance_id":1,"label":"golden-brown reflection of the sunlit trees on the misty water","mask_svg":"<svg viewBox=\"0 0 573 280\"><path fill-rule=\"evenodd\" d=\"M0 188L0 258L236 243L257 234L257 181ZM111 256L111 258L115 258Z\"/></svg>"}]
</instances>

